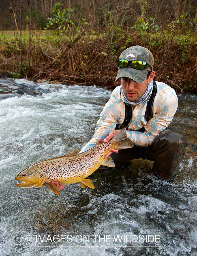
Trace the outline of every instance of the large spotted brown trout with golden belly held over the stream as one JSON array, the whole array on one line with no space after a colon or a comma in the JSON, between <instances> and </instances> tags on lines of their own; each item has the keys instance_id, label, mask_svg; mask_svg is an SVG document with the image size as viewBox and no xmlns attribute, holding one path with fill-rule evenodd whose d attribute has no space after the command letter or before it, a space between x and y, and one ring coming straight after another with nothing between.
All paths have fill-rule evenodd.
<instances>
[{"instance_id":1,"label":"large spotted brown trout with golden belly held over the stream","mask_svg":"<svg viewBox=\"0 0 197 256\"><path fill-rule=\"evenodd\" d=\"M75 149L65 156L44 160L34 164L20 172L15 180L22 181L16 184L22 188L38 188L46 186L53 193L59 195L60 191L50 181L57 181L60 185L79 183L82 188L86 186L94 189L91 179L85 179L95 172L100 165L114 167L114 162L109 156L110 148L123 149L132 148L133 143L127 138L126 129L117 133L106 143L98 142L93 148L78 154Z\"/></svg>"}]
</instances>

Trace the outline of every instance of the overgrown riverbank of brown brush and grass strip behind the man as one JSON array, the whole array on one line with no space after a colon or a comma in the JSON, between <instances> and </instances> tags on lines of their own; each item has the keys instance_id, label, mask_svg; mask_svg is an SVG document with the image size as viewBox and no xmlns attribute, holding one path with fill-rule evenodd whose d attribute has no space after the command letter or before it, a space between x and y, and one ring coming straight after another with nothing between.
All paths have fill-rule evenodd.
<instances>
[{"instance_id":1,"label":"overgrown riverbank of brown brush and grass strip behind the man","mask_svg":"<svg viewBox=\"0 0 197 256\"><path fill-rule=\"evenodd\" d=\"M150 24L147 30L136 25L98 32L84 26L74 35L67 32L61 36L50 30L45 34L40 30L13 31L9 36L4 32L0 38L0 76L113 89L119 84L115 82L119 55L139 44L153 53L155 80L178 93L197 93L197 37L192 29L183 34L178 24L176 20L166 30Z\"/></svg>"}]
</instances>

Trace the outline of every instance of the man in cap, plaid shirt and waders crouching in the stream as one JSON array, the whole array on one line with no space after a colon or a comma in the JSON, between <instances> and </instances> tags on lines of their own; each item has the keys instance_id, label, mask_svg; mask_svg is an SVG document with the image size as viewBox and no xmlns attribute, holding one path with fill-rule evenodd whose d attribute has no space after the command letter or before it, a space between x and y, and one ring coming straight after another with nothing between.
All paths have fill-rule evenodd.
<instances>
[{"instance_id":1,"label":"man in cap, plaid shirt and waders crouching in the stream","mask_svg":"<svg viewBox=\"0 0 197 256\"><path fill-rule=\"evenodd\" d=\"M81 152L95 146L98 140L109 141L124 128L125 108L128 111L129 107L132 114L126 120L127 137L134 147L111 149L105 158L111 154L116 166L137 158L154 161L153 174L173 181L188 142L167 128L177 110L178 99L174 89L162 82L156 82L153 92L153 64L152 53L142 46L132 46L121 53L116 77L116 80L121 79L121 85L112 92L100 114L93 138ZM152 112L148 117L147 111Z\"/></svg>"}]
</instances>

